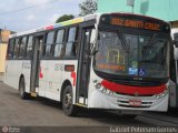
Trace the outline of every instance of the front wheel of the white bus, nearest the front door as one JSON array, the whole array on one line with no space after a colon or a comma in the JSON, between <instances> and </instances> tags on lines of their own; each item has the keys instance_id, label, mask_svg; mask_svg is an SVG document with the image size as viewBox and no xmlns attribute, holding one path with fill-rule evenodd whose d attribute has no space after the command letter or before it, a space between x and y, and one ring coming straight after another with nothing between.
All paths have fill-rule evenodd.
<instances>
[{"instance_id":1,"label":"front wheel of the white bus, nearest the front door","mask_svg":"<svg viewBox=\"0 0 178 133\"><path fill-rule=\"evenodd\" d=\"M77 106L72 104L72 88L67 85L62 94L62 110L68 116L75 116L78 112Z\"/></svg>"}]
</instances>

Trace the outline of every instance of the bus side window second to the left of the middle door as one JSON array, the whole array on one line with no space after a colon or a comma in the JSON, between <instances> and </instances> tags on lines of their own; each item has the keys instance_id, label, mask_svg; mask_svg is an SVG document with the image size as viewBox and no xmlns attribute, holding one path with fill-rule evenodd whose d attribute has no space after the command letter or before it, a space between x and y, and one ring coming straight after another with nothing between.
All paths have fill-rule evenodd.
<instances>
[{"instance_id":1,"label":"bus side window second to the left of the middle door","mask_svg":"<svg viewBox=\"0 0 178 133\"><path fill-rule=\"evenodd\" d=\"M26 57L26 43L27 37L23 37L20 44L19 59L23 59Z\"/></svg>"}]
</instances>

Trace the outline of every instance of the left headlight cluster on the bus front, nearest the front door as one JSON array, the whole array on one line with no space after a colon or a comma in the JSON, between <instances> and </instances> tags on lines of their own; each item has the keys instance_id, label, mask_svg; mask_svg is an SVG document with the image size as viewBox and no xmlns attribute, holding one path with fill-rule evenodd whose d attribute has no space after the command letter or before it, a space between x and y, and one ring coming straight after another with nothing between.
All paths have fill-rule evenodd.
<instances>
[{"instance_id":1,"label":"left headlight cluster on the bus front, nearest the front door","mask_svg":"<svg viewBox=\"0 0 178 133\"><path fill-rule=\"evenodd\" d=\"M112 92L112 91L106 89L105 86L102 86L102 84L101 84L100 82L98 82L97 80L93 81L93 84L95 84L95 88L96 88L99 92L101 92L101 93L103 93L103 94L107 94L107 95L110 95L110 96L113 96L113 95L115 95L115 92Z\"/></svg>"}]
</instances>

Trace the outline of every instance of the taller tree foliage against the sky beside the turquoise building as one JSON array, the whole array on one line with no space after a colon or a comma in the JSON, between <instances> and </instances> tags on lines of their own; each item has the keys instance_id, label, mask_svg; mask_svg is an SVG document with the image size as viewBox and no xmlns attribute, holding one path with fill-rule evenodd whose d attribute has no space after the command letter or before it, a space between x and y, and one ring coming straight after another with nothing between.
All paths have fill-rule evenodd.
<instances>
[{"instance_id":1,"label":"taller tree foliage against the sky beside the turquoise building","mask_svg":"<svg viewBox=\"0 0 178 133\"><path fill-rule=\"evenodd\" d=\"M80 14L81 17L95 13L97 11L97 3L98 0L85 0L83 2L79 3Z\"/></svg>"}]
</instances>

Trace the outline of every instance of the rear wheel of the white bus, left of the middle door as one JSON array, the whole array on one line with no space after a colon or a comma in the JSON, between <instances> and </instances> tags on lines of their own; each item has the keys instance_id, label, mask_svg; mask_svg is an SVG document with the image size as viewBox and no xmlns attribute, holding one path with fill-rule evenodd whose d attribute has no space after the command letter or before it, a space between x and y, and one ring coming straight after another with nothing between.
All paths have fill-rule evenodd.
<instances>
[{"instance_id":1,"label":"rear wheel of the white bus, left of the middle door","mask_svg":"<svg viewBox=\"0 0 178 133\"><path fill-rule=\"evenodd\" d=\"M20 79L20 83L19 83L19 94L20 94L20 98L22 100L27 100L29 98L29 94L26 93L26 85L24 85L24 78L21 78Z\"/></svg>"}]
</instances>

